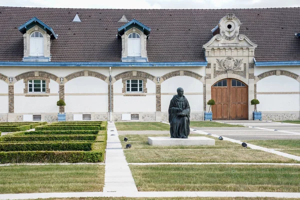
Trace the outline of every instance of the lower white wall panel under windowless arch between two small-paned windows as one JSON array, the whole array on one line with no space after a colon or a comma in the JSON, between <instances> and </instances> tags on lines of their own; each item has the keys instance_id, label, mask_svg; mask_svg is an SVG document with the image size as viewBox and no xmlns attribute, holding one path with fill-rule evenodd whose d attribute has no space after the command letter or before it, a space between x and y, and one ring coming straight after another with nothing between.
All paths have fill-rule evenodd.
<instances>
[{"instance_id":1,"label":"lower white wall panel under windowless arch between two small-paned windows","mask_svg":"<svg viewBox=\"0 0 300 200\"><path fill-rule=\"evenodd\" d=\"M107 112L107 95L65 95L65 112Z\"/></svg>"}]
</instances>

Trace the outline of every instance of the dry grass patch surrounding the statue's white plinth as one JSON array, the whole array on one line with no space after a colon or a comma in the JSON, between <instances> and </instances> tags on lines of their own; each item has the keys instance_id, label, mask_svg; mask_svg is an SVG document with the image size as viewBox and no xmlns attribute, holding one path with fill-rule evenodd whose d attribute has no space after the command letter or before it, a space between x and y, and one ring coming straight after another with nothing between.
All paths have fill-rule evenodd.
<instances>
[{"instance_id":1,"label":"dry grass patch surrounding the statue's white plinth","mask_svg":"<svg viewBox=\"0 0 300 200\"><path fill-rule=\"evenodd\" d=\"M199 136L198 134L191 135ZM124 136L128 138L127 142L122 141ZM148 136L157 135L128 134L119 136L123 148L126 143L132 145L131 148L124 149L127 162L297 162L283 156L243 148L239 144L215 138L214 146L151 146L147 144Z\"/></svg>"}]
</instances>

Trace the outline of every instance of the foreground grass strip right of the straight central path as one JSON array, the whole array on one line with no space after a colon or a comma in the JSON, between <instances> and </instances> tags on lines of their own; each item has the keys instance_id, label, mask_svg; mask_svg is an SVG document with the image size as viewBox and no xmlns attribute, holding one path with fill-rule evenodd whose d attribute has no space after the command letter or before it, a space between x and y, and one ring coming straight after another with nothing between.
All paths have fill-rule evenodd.
<instances>
[{"instance_id":1,"label":"foreground grass strip right of the straight central path","mask_svg":"<svg viewBox=\"0 0 300 200\"><path fill-rule=\"evenodd\" d=\"M130 165L139 191L299 192L300 166Z\"/></svg>"}]
</instances>

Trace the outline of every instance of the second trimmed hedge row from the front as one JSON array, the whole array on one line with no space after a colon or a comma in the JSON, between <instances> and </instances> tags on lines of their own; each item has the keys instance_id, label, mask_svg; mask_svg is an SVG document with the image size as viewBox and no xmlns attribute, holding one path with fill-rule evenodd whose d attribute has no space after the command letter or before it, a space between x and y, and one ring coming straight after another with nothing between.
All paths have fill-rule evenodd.
<instances>
[{"instance_id":1,"label":"second trimmed hedge row from the front","mask_svg":"<svg viewBox=\"0 0 300 200\"><path fill-rule=\"evenodd\" d=\"M32 150L91 150L92 142L28 142L0 143L0 151L32 151Z\"/></svg>"}]
</instances>

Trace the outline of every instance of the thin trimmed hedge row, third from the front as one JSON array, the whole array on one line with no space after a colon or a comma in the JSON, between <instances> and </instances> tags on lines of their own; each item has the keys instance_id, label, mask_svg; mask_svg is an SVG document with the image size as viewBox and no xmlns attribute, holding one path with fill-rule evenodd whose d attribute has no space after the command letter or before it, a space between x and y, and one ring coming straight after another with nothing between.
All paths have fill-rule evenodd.
<instances>
[{"instance_id":1,"label":"thin trimmed hedge row, third from the front","mask_svg":"<svg viewBox=\"0 0 300 200\"><path fill-rule=\"evenodd\" d=\"M79 141L95 140L96 135L24 135L24 136L2 136L0 141Z\"/></svg>"}]
</instances>

